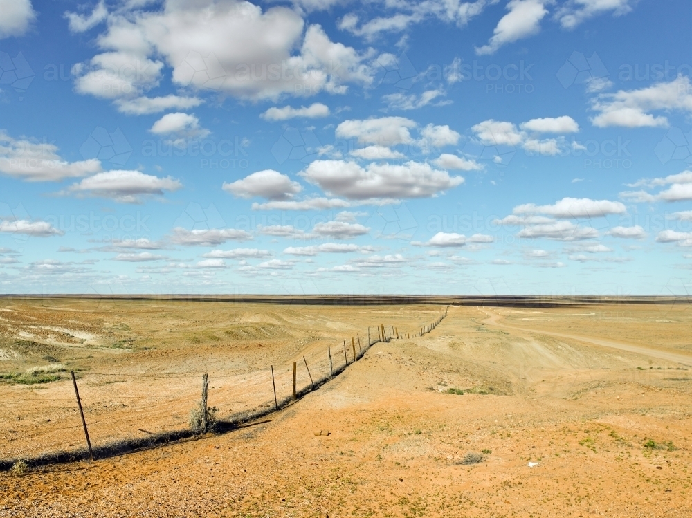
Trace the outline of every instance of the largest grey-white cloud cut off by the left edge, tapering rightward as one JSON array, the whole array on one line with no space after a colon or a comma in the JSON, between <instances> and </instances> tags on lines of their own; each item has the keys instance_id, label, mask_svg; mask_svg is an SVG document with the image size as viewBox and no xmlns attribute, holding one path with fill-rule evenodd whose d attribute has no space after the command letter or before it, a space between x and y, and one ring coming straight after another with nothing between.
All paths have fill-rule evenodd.
<instances>
[{"instance_id":1,"label":"largest grey-white cloud cut off by the left edge, tapering rightward","mask_svg":"<svg viewBox=\"0 0 692 518\"><path fill-rule=\"evenodd\" d=\"M68 162L50 142L17 140L0 131L0 172L30 182L60 181L101 171L99 160Z\"/></svg>"}]
</instances>

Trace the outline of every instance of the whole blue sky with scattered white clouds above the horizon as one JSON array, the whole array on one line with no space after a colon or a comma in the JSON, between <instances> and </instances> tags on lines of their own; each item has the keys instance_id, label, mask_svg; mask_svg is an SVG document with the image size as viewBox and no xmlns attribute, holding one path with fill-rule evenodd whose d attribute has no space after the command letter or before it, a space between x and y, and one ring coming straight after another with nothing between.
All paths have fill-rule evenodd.
<instances>
[{"instance_id":1,"label":"whole blue sky with scattered white clouds above the horizon","mask_svg":"<svg viewBox=\"0 0 692 518\"><path fill-rule=\"evenodd\" d=\"M688 2L0 12L1 293L691 289Z\"/></svg>"}]
</instances>

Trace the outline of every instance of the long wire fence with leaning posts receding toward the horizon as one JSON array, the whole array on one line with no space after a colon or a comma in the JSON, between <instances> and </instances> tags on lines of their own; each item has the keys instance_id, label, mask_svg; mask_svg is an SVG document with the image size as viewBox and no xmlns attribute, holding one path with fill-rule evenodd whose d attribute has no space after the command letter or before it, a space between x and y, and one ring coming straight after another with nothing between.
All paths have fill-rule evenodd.
<instances>
[{"instance_id":1,"label":"long wire fence with leaning posts receding toward the horizon","mask_svg":"<svg viewBox=\"0 0 692 518\"><path fill-rule=\"evenodd\" d=\"M36 385L1 385L0 470L17 461L30 467L104 458L143 447L224 432L266 416L317 389L363 357L377 342L420 337L372 326L326 351L307 351L284 365L244 373L75 373ZM26 373L0 373L25 376ZM204 381L203 381L204 378ZM206 400L205 405L201 401ZM78 404L80 401L80 404ZM83 413L80 416L80 407ZM85 432L90 445L87 447Z\"/></svg>"}]
</instances>

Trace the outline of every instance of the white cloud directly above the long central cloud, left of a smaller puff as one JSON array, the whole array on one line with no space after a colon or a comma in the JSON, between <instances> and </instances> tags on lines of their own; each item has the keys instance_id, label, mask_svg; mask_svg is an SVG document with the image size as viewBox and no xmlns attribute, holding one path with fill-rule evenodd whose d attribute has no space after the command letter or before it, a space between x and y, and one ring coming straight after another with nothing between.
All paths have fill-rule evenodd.
<instances>
[{"instance_id":1,"label":"white cloud directly above the long central cloud, left of a smaller puff","mask_svg":"<svg viewBox=\"0 0 692 518\"><path fill-rule=\"evenodd\" d=\"M417 123L404 117L345 120L336 127L337 138L356 138L361 144L392 146L411 144L410 129Z\"/></svg>"}]
</instances>

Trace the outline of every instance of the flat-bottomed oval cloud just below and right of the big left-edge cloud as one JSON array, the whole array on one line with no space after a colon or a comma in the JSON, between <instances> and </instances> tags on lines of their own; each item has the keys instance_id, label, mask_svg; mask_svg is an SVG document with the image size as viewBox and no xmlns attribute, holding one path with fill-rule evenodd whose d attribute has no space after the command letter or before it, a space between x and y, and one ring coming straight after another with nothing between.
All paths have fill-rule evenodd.
<instances>
[{"instance_id":1,"label":"flat-bottomed oval cloud just below and right of the big left-edge cloud","mask_svg":"<svg viewBox=\"0 0 692 518\"><path fill-rule=\"evenodd\" d=\"M176 178L167 176L159 178L140 171L107 171L68 187L67 191L74 194L89 194L100 198L112 198L121 203L140 203L142 195L159 195L163 192L175 192L183 184Z\"/></svg>"}]
</instances>

